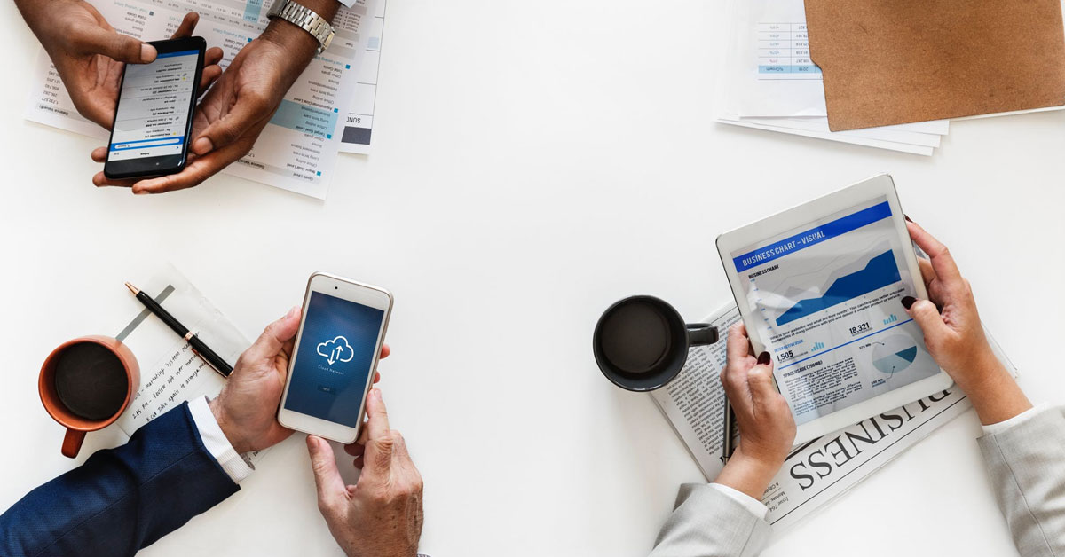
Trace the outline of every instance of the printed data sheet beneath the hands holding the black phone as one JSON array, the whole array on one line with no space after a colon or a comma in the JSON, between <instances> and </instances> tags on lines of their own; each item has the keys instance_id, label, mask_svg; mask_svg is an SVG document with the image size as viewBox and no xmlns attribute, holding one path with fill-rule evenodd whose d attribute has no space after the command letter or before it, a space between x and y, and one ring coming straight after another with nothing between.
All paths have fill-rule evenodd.
<instances>
[{"instance_id":1,"label":"printed data sheet beneath the hands holding the black phone","mask_svg":"<svg viewBox=\"0 0 1065 557\"><path fill-rule=\"evenodd\" d=\"M324 199L333 179L342 130L341 111L351 107L360 59L368 34L361 32L366 14L378 0L357 0L341 7L332 45L311 62L285 95L271 122L245 158L223 170L311 197ZM198 12L196 34L208 47L222 47L223 68L240 49L259 36L268 22L263 0L224 4L202 0L92 0L119 32L145 40L169 37L186 12ZM28 119L99 137L108 132L82 118L67 95L44 49L37 63L36 85L26 111ZM86 177L86 180L88 177Z\"/></svg>"}]
</instances>

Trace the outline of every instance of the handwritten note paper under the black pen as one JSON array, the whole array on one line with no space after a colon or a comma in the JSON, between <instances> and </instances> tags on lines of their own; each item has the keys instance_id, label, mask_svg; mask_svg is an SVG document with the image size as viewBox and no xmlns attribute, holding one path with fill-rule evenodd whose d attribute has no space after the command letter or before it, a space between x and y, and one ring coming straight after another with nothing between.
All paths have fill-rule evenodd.
<instances>
[{"instance_id":1,"label":"handwritten note paper under the black pen","mask_svg":"<svg viewBox=\"0 0 1065 557\"><path fill-rule=\"evenodd\" d=\"M199 333L230 365L250 342L173 265L144 284L137 284L190 330ZM126 289L122 289L125 291ZM128 292L126 305L131 318L124 322L115 338L133 351L141 366L141 386L129 408L118 419L118 427L133 435L141 426L174 406L197 396L214 397L226 384L189 342L178 337L159 317ZM252 457L258 456L258 453Z\"/></svg>"}]
</instances>

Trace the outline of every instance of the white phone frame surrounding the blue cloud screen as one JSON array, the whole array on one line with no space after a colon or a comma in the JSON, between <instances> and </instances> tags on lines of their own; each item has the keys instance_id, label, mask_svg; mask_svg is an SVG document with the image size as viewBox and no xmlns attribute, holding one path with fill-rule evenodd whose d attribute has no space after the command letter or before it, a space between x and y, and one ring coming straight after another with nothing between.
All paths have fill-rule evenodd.
<instances>
[{"instance_id":1,"label":"white phone frame surrounding the blue cloud screen","mask_svg":"<svg viewBox=\"0 0 1065 557\"><path fill-rule=\"evenodd\" d=\"M381 327L377 332L377 343L374 351L374 359L371 362L371 372L366 375L366 384L362 392L362 398L359 402L360 420L359 425L356 427L348 427L344 424L338 424L335 422L308 415L295 410L289 410L284 407L284 403L289 397L289 388L292 384L293 370L295 368L296 361L299 359L299 342L304 335L304 326L307 323L307 305L311 300L312 292L321 292L322 294L355 301L357 304L362 304L364 306L384 311L384 317L381 320ZM307 281L307 292L304 295L304 310L299 317L299 330L296 332L292 356L289 359L289 370L288 375L285 376L284 391L281 394L281 403L278 405L277 410L277 420L281 425L290 429L315 435L345 444L353 443L356 439L358 439L362 429L361 416L365 415L366 411L366 395L370 394L370 389L374 384L374 373L377 371L377 362L380 360L381 346L384 344L384 334L389 327L389 317L392 315L392 293L380 286L357 282L343 277L338 277L335 275L330 275L328 273L318 272L311 275L310 279Z\"/></svg>"}]
</instances>

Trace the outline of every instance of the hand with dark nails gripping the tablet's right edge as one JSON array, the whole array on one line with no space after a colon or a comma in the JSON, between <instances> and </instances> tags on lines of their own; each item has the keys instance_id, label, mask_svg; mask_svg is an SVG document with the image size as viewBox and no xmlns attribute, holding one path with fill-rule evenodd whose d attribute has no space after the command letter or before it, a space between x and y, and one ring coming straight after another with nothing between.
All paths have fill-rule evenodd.
<instances>
[{"instance_id":1,"label":"hand with dark nails gripping the tablet's right edge","mask_svg":"<svg viewBox=\"0 0 1065 557\"><path fill-rule=\"evenodd\" d=\"M906 312L924 333L929 354L958 389L969 395L985 424L1007 420L1031 408L987 343L972 288L962 277L950 250L916 223L907 222L906 228L910 237L930 258L918 258L917 262L931 299L902 298Z\"/></svg>"}]
</instances>

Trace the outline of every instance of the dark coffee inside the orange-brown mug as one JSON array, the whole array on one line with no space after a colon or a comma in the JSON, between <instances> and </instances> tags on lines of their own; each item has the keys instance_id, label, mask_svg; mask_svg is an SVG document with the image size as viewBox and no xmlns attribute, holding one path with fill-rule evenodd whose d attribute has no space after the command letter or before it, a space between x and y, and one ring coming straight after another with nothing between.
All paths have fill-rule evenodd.
<instances>
[{"instance_id":1,"label":"dark coffee inside the orange-brown mug","mask_svg":"<svg viewBox=\"0 0 1065 557\"><path fill-rule=\"evenodd\" d=\"M55 394L85 420L106 420L126 403L129 376L113 351L95 343L75 344L55 362Z\"/></svg>"}]
</instances>

